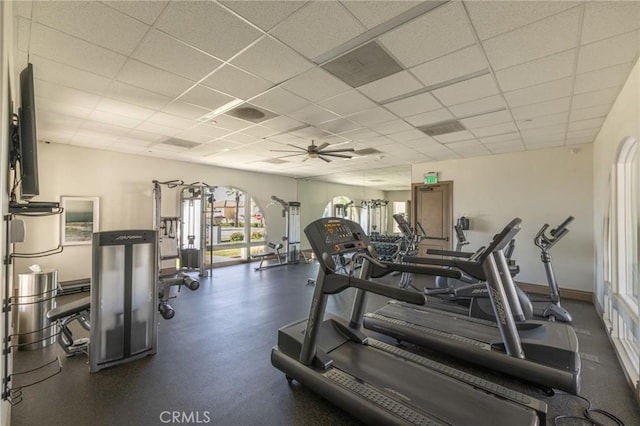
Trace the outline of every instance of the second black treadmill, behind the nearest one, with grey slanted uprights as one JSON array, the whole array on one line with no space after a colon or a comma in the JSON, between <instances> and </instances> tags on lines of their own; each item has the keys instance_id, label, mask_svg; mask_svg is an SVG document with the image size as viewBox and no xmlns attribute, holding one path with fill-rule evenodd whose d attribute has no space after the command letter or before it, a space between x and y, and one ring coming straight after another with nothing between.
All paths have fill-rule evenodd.
<instances>
[{"instance_id":1,"label":"second black treadmill, behind the nearest one, with grey slanted uprights","mask_svg":"<svg viewBox=\"0 0 640 426\"><path fill-rule=\"evenodd\" d=\"M512 314L517 295L502 249L520 230L520 223L519 218L512 220L475 261L405 258L458 268L486 281L497 322L393 301L364 315L364 327L523 379L549 394L553 389L579 394L580 355L573 328L549 321L516 322ZM363 312L354 309L351 323L362 321Z\"/></svg>"}]
</instances>

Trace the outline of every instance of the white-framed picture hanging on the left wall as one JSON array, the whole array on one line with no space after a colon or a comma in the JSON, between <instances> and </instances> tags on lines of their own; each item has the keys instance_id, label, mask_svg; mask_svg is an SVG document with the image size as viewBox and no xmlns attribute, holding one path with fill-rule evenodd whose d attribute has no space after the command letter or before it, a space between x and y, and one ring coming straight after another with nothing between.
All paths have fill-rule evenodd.
<instances>
[{"instance_id":1,"label":"white-framed picture hanging on the left wall","mask_svg":"<svg viewBox=\"0 0 640 426\"><path fill-rule=\"evenodd\" d=\"M98 197L68 197L60 199L63 208L60 235L63 246L91 244L98 232Z\"/></svg>"}]
</instances>

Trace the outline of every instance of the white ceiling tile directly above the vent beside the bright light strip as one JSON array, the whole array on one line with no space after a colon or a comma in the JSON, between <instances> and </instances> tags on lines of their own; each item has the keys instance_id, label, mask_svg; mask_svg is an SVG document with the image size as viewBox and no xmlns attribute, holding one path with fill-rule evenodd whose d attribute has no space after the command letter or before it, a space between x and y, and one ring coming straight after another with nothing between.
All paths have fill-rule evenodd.
<instances>
[{"instance_id":1,"label":"white ceiling tile directly above the vent beside the bright light strip","mask_svg":"<svg viewBox=\"0 0 640 426\"><path fill-rule=\"evenodd\" d=\"M225 65L200 84L248 100L273 86L267 80L255 77L233 65Z\"/></svg>"}]
</instances>

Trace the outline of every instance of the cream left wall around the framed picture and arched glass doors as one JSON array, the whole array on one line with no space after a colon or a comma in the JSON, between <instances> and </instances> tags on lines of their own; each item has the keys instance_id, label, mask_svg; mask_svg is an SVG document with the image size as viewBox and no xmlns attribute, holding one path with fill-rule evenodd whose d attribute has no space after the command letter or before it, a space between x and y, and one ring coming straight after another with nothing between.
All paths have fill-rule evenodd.
<instances>
[{"instance_id":1,"label":"cream left wall around the framed picture and arched glass doors","mask_svg":"<svg viewBox=\"0 0 640 426\"><path fill-rule=\"evenodd\" d=\"M280 209L265 209L271 195L295 199L296 181L291 178L224 169L200 164L120 154L61 144L38 144L40 196L34 201L59 201L63 195L100 197L100 230L150 229L153 227L153 180L182 179L209 185L232 186L247 191L265 212L268 238L284 233ZM173 193L172 193L173 191ZM162 188L166 205L177 206L177 189ZM169 210L171 210L169 208ZM165 213L166 212L166 213ZM18 252L37 252L55 247L60 239L60 216L27 219L27 238L16 244ZM90 246L66 246L64 252L35 260L16 262L16 273L32 263L59 271L59 279L91 276Z\"/></svg>"}]
</instances>

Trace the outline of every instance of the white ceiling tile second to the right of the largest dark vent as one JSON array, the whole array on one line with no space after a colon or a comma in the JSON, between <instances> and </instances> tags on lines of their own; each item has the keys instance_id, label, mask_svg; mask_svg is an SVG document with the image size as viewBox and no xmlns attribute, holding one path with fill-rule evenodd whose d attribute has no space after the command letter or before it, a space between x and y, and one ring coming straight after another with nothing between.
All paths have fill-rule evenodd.
<instances>
[{"instance_id":1,"label":"white ceiling tile second to the right of the largest dark vent","mask_svg":"<svg viewBox=\"0 0 640 426\"><path fill-rule=\"evenodd\" d=\"M569 77L573 73L574 61L574 51L558 53L498 71L496 78L502 90L509 92Z\"/></svg>"}]
</instances>

